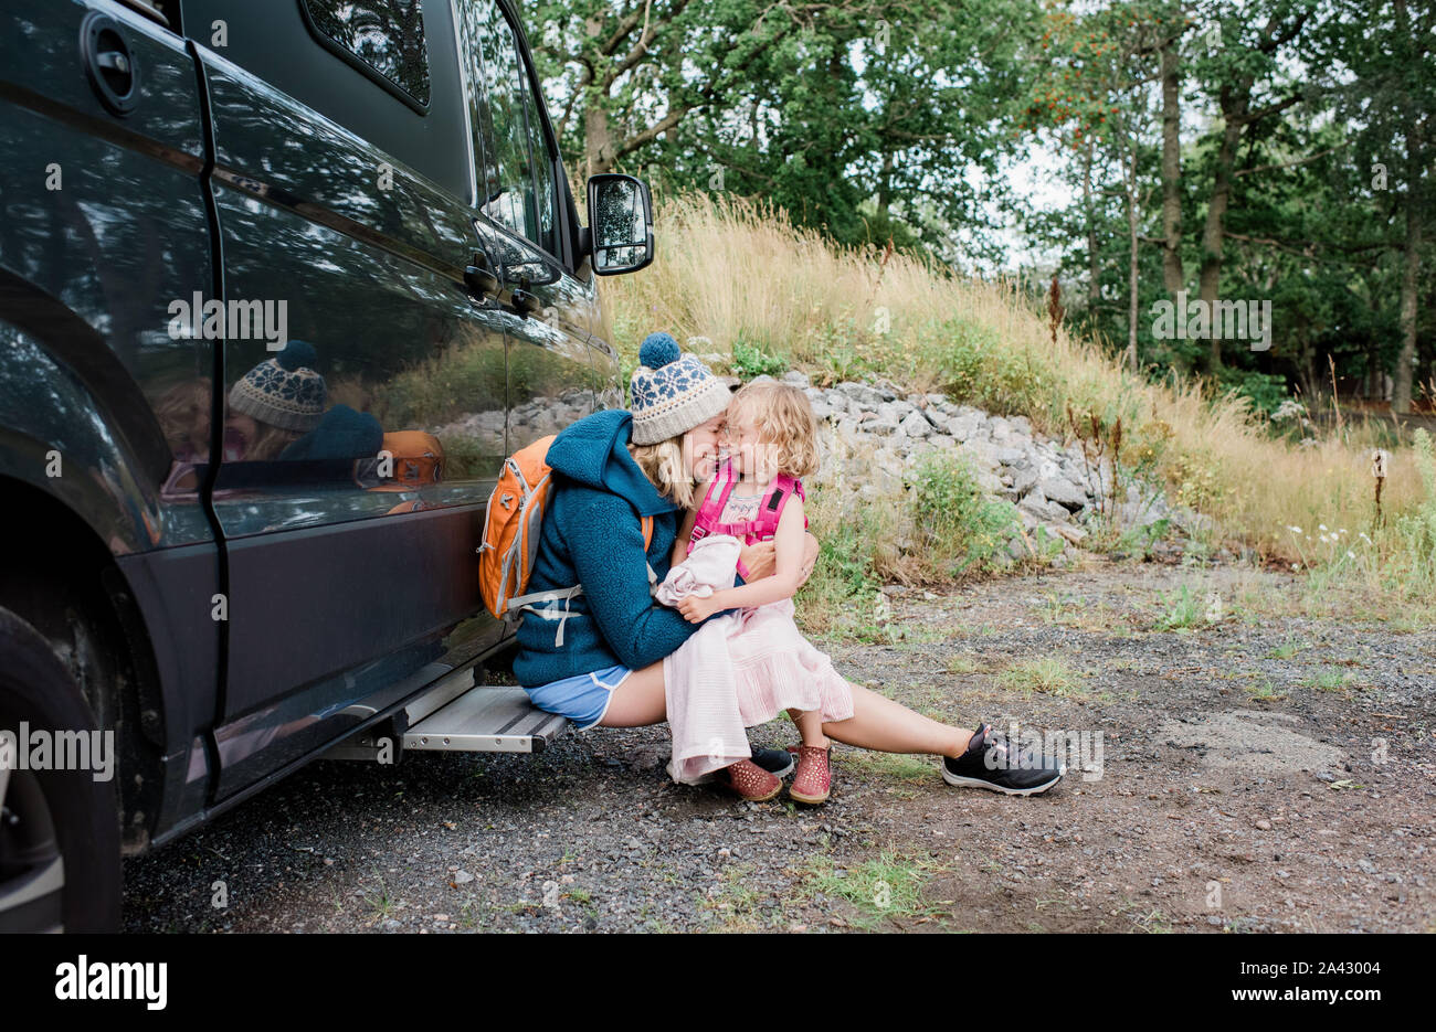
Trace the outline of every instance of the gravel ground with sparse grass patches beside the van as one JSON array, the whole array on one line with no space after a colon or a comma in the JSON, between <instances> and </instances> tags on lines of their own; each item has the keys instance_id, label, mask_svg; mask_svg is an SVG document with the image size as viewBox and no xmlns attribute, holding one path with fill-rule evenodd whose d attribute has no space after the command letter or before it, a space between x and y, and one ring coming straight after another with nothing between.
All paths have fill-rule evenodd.
<instances>
[{"instance_id":1,"label":"gravel ground with sparse grass patches beside the van","mask_svg":"<svg viewBox=\"0 0 1436 1032\"><path fill-rule=\"evenodd\" d=\"M817 640L933 716L1076 735L1043 797L837 746L824 807L744 804L673 785L662 726L569 732L538 756L319 762L128 860L125 924L1436 932L1436 634L1288 614L1294 583L1087 558L902 593L900 636ZM1163 630L1182 587L1202 614Z\"/></svg>"}]
</instances>

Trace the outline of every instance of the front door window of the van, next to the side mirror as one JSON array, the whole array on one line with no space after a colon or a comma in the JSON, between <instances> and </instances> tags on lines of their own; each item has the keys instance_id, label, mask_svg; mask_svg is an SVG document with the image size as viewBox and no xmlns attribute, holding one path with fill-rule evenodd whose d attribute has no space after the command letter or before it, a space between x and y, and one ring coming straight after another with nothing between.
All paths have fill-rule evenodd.
<instances>
[{"instance_id":1,"label":"front door window of the van, next to the side mirror","mask_svg":"<svg viewBox=\"0 0 1436 1032\"><path fill-rule=\"evenodd\" d=\"M484 155L480 208L557 254L551 155L513 27L493 0L460 0L468 40L474 154Z\"/></svg>"}]
</instances>

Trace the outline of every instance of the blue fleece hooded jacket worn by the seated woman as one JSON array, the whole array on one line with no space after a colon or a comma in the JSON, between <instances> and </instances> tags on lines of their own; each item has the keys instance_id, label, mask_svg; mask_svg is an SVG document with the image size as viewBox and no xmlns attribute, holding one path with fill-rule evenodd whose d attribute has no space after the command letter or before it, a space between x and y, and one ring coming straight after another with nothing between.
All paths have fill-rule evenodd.
<instances>
[{"instance_id":1,"label":"blue fleece hooded jacket worn by the seated woman","mask_svg":"<svg viewBox=\"0 0 1436 1032\"><path fill-rule=\"evenodd\" d=\"M563 624L561 646L554 644L557 620L523 614L514 677L524 688L617 663L638 670L702 626L648 593L639 517L653 517L646 558L662 580L682 514L629 455L632 426L628 409L605 409L570 423L549 445L553 484L526 593L573 584L583 591L569 601L573 616Z\"/></svg>"}]
</instances>

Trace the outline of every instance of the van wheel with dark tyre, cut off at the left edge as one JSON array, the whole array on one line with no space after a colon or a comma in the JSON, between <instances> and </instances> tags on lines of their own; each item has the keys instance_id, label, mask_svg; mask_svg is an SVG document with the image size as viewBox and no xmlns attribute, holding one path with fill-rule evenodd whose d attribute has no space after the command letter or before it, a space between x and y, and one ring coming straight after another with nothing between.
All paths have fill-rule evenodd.
<instances>
[{"instance_id":1,"label":"van wheel with dark tyre, cut off at the left edge","mask_svg":"<svg viewBox=\"0 0 1436 1032\"><path fill-rule=\"evenodd\" d=\"M22 723L32 738L95 729L49 643L0 609L0 732L9 732L0 741L0 932L118 932L115 781L89 769L20 769Z\"/></svg>"}]
</instances>

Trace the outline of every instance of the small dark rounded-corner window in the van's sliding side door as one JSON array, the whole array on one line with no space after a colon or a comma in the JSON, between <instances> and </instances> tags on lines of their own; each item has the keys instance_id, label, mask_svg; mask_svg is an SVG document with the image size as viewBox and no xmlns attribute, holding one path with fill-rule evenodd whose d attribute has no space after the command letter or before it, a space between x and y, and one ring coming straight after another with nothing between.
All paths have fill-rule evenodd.
<instances>
[{"instance_id":1,"label":"small dark rounded-corner window in the van's sliding side door","mask_svg":"<svg viewBox=\"0 0 1436 1032\"><path fill-rule=\"evenodd\" d=\"M302 0L314 27L365 67L429 103L422 0Z\"/></svg>"}]
</instances>

